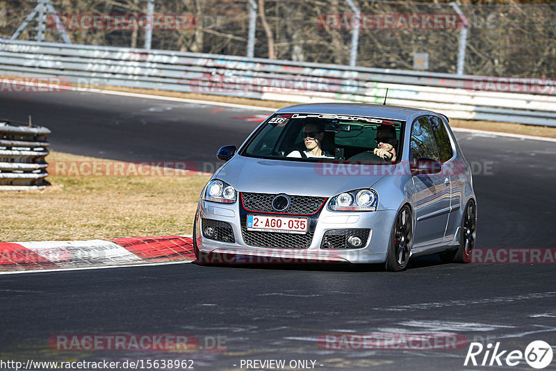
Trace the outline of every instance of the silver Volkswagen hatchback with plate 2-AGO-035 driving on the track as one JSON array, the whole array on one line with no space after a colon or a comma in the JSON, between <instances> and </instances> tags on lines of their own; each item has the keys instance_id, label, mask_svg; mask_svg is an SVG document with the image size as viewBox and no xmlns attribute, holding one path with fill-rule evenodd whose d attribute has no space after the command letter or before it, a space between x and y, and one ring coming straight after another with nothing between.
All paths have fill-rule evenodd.
<instances>
[{"instance_id":1,"label":"silver Volkswagen hatchback with plate 2-AGO-035 driving on the track","mask_svg":"<svg viewBox=\"0 0 556 371\"><path fill-rule=\"evenodd\" d=\"M195 213L200 262L383 263L400 271L411 256L471 259L473 179L444 115L300 104L217 156L227 163Z\"/></svg>"}]
</instances>

